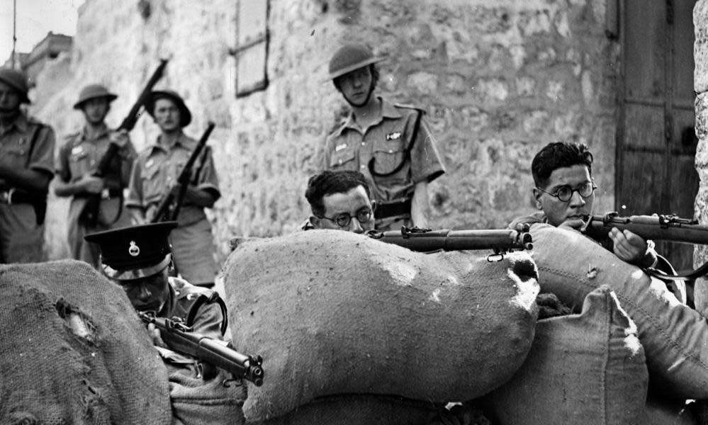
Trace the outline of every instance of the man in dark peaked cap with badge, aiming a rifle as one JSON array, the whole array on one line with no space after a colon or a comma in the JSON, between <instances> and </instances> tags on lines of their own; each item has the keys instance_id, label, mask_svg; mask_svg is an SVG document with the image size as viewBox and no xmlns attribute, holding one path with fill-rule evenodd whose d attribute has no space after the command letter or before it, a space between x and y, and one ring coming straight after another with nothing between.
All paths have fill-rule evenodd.
<instances>
[{"instance_id":1,"label":"man in dark peaked cap with badge, aiming a rifle","mask_svg":"<svg viewBox=\"0 0 708 425\"><path fill-rule=\"evenodd\" d=\"M170 277L169 232L176 222L160 222L89 234L98 244L101 271L120 285L135 310L156 317L180 319L196 334L224 341L226 305L218 293ZM167 367L174 424L242 424L246 386L240 380L224 385L230 375L165 344L159 329L147 331Z\"/></svg>"}]
</instances>

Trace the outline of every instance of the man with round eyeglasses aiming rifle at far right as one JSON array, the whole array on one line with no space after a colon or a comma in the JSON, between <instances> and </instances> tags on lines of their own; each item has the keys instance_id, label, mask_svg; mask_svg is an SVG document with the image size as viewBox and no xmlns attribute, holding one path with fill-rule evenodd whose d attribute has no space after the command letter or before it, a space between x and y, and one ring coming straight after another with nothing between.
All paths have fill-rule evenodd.
<instances>
[{"instance_id":1,"label":"man with round eyeglasses aiming rifle at far right","mask_svg":"<svg viewBox=\"0 0 708 425\"><path fill-rule=\"evenodd\" d=\"M592 180L592 154L578 143L549 143L536 154L531 164L536 187L533 189L536 208L540 211L522 217L510 225L546 222L556 227L579 229L583 215L592 214L595 182ZM613 228L609 239L598 241L613 251L622 261L639 267L656 267L658 261L668 261L656 255L651 242L628 230Z\"/></svg>"}]
</instances>

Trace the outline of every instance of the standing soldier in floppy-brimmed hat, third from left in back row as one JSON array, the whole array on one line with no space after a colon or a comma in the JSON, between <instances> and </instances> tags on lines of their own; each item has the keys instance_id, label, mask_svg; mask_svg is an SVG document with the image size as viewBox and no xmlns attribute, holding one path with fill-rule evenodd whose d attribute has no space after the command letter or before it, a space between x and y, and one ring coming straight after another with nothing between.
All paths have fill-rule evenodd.
<instances>
[{"instance_id":1,"label":"standing soldier in floppy-brimmed hat, third from left in back row","mask_svg":"<svg viewBox=\"0 0 708 425\"><path fill-rule=\"evenodd\" d=\"M191 122L184 100L174 91L152 91L145 105L159 126L154 144L140 152L130 176L125 206L137 224L151 222L163 196L179 190L177 178L197 141L182 132ZM213 255L211 225L204 208L220 198L211 151L203 149L192 168L191 180L179 210L179 226L170 234L176 271L189 282L210 288L217 268Z\"/></svg>"}]
</instances>

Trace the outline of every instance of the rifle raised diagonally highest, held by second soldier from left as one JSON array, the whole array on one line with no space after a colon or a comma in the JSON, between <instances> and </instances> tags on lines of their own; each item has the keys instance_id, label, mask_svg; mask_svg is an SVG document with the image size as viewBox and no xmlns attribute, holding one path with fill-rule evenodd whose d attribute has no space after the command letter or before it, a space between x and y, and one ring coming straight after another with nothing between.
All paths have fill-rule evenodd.
<instances>
[{"instance_id":1,"label":"rifle raised diagonally highest, held by second soldier from left","mask_svg":"<svg viewBox=\"0 0 708 425\"><path fill-rule=\"evenodd\" d=\"M130 131L135 128L137 119L140 118L140 108L145 105L145 102L147 101L148 96L150 96L150 92L152 91L154 85L157 84L157 81L162 78L162 74L164 73L164 67L167 66L167 61L167 59L160 60L160 64L157 66L157 69L154 70L150 79L147 80L147 84L145 84L145 87L140 92L140 96L137 96L137 101L135 101L133 107L130 108L130 111L128 111L128 115L125 117L125 119L123 119L123 122L120 123L118 128L116 128L116 131ZM115 143L111 143L108 145L108 149L106 149L106 152L103 154L103 157L99 159L99 164L96 166L96 170L93 173L94 177L103 177L106 175L106 173L108 173L108 167L111 166L111 162L113 161L113 158L116 157L116 154L118 154L119 149L120 147ZM99 220L99 207L101 205L101 197L101 193L91 194L86 197L86 203L84 204L84 208L82 209L82 212L79 215L80 222L85 223L90 227L96 226L96 223ZM113 221L115 222L116 220L118 220L118 217L120 217L120 210L118 210L118 214L113 219Z\"/></svg>"}]
</instances>

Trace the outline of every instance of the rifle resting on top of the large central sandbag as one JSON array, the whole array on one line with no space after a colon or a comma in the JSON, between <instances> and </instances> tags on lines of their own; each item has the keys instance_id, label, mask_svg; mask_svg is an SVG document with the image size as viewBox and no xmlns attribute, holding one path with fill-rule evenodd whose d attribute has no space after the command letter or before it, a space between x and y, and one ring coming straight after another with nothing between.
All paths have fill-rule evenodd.
<instances>
[{"instance_id":1,"label":"rifle resting on top of the large central sandbag","mask_svg":"<svg viewBox=\"0 0 708 425\"><path fill-rule=\"evenodd\" d=\"M492 249L499 259L502 259L506 252L534 247L528 225L520 225L517 229L483 230L432 230L402 227L400 231L369 230L366 234L372 239L418 252ZM492 261L493 258L495 257L490 256L489 260Z\"/></svg>"}]
</instances>

